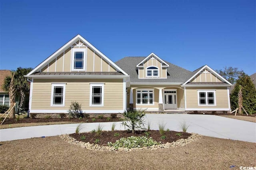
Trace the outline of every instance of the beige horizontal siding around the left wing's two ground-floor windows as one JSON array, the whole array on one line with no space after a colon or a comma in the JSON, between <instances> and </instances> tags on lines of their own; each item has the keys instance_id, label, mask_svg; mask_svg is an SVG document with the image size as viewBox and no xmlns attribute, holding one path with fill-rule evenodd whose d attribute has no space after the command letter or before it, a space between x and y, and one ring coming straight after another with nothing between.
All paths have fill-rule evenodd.
<instances>
[{"instance_id":1,"label":"beige horizontal siding around the left wing's two ground-floor windows","mask_svg":"<svg viewBox=\"0 0 256 170\"><path fill-rule=\"evenodd\" d=\"M52 83L66 83L64 107L51 107ZM105 83L104 107L90 107L90 83ZM68 110L71 101L85 111L123 110L123 79L34 79L31 110Z\"/></svg>"}]
</instances>

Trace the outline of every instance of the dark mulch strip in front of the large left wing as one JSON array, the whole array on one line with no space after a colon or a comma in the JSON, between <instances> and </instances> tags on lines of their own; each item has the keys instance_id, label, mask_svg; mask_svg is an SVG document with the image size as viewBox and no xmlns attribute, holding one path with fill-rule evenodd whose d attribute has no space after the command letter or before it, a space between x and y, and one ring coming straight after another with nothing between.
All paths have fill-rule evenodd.
<instances>
[{"instance_id":1,"label":"dark mulch strip in front of the large left wing","mask_svg":"<svg viewBox=\"0 0 256 170\"><path fill-rule=\"evenodd\" d=\"M3 123L3 125L7 124L16 124L16 123L43 123L43 122L74 122L74 123L95 123L95 122L119 122L120 118L110 118L110 120L107 120L107 118L95 118L95 121L92 121L92 118L23 118L19 121L16 121L16 119L6 119Z\"/></svg>"}]
</instances>

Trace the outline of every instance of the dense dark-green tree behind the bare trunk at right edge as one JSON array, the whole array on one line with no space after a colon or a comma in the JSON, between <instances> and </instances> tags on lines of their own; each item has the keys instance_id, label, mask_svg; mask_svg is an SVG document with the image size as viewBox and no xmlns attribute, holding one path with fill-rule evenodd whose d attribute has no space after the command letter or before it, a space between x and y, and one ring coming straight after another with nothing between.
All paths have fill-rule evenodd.
<instances>
[{"instance_id":1,"label":"dense dark-green tree behind the bare trunk at right edge","mask_svg":"<svg viewBox=\"0 0 256 170\"><path fill-rule=\"evenodd\" d=\"M231 109L238 108L238 93L242 86L242 106L251 115L256 113L256 89L248 75L243 73L236 81L234 90L230 94Z\"/></svg>"}]
</instances>

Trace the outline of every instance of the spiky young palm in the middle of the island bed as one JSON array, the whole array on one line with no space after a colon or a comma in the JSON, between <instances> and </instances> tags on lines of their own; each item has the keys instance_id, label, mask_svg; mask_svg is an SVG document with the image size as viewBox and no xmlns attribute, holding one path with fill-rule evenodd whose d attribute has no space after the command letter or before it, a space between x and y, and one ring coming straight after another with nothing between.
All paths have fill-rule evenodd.
<instances>
[{"instance_id":1,"label":"spiky young palm in the middle of the island bed","mask_svg":"<svg viewBox=\"0 0 256 170\"><path fill-rule=\"evenodd\" d=\"M135 130L144 129L145 124L145 111L146 109L138 109L136 111L128 111L124 112L122 118L122 125L125 129L130 128L132 129L132 133L135 133Z\"/></svg>"}]
</instances>

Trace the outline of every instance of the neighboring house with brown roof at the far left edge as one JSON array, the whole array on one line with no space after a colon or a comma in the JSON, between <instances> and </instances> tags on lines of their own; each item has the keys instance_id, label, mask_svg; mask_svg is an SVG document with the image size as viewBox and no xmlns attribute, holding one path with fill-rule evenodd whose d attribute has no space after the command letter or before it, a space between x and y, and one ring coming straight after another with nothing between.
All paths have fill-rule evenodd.
<instances>
[{"instance_id":1,"label":"neighboring house with brown roof at the far left edge","mask_svg":"<svg viewBox=\"0 0 256 170\"><path fill-rule=\"evenodd\" d=\"M10 98L7 91L2 90L2 85L4 83L4 78L11 75L10 70L0 70L0 105L10 105Z\"/></svg>"}]
</instances>

